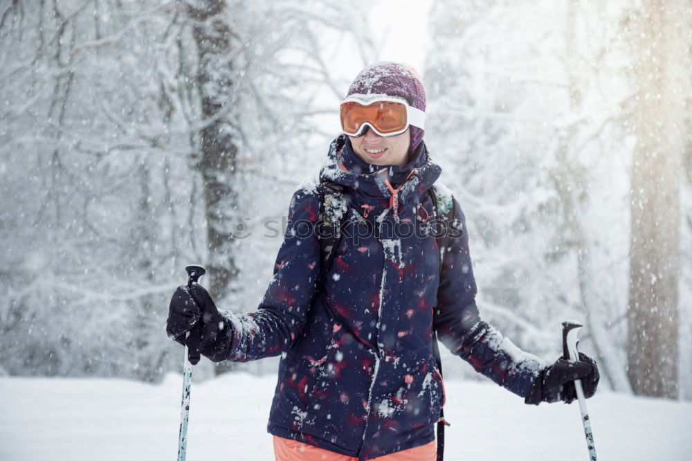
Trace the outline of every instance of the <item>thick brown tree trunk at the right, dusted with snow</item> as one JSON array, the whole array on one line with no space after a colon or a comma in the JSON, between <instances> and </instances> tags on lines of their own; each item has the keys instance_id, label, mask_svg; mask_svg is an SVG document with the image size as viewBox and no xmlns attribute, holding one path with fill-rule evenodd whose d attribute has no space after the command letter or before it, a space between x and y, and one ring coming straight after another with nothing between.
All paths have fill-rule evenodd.
<instances>
[{"instance_id":1,"label":"thick brown tree trunk at the right, dusted with snow","mask_svg":"<svg viewBox=\"0 0 692 461\"><path fill-rule=\"evenodd\" d=\"M680 181L688 71L683 0L645 0L632 162L628 377L637 395L677 397Z\"/></svg>"}]
</instances>

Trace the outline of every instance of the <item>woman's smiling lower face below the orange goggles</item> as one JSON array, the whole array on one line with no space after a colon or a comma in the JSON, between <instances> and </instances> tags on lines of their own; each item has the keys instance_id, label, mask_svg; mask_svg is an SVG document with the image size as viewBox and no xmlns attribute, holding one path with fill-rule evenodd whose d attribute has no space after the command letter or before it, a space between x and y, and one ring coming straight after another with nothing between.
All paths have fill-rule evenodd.
<instances>
[{"instance_id":1,"label":"woman's smiling lower face below the orange goggles","mask_svg":"<svg viewBox=\"0 0 692 461\"><path fill-rule=\"evenodd\" d=\"M380 136L372 129L358 138L349 136L356 155L372 165L406 166L408 147L411 144L408 129L397 136Z\"/></svg>"}]
</instances>

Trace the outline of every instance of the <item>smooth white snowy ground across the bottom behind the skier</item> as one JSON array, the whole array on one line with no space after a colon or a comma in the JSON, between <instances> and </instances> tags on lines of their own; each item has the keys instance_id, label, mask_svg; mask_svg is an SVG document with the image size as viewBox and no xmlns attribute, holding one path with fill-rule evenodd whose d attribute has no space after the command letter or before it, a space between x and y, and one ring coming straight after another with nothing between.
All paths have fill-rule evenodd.
<instances>
[{"instance_id":1,"label":"smooth white snowy ground across the bottom behind the skier","mask_svg":"<svg viewBox=\"0 0 692 461\"><path fill-rule=\"evenodd\" d=\"M193 383L188 460L273 460L266 433L274 377ZM176 458L182 378L0 378L0 460ZM447 460L587 460L576 404L525 406L492 383L446 383ZM692 460L692 403L590 399L601 460Z\"/></svg>"}]
</instances>

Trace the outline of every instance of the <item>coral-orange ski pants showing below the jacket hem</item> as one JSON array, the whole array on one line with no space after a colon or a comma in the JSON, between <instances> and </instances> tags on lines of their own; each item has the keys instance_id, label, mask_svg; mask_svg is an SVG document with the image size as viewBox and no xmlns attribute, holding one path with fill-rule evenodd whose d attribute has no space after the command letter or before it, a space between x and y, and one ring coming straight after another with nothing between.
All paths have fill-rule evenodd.
<instances>
[{"instance_id":1,"label":"coral-orange ski pants showing below the jacket hem","mask_svg":"<svg viewBox=\"0 0 692 461\"><path fill-rule=\"evenodd\" d=\"M374 458L374 461L435 461L436 451L437 444L433 440L429 444ZM274 436L274 455L276 461L358 461L358 458L340 455L334 451L323 450L276 435Z\"/></svg>"}]
</instances>

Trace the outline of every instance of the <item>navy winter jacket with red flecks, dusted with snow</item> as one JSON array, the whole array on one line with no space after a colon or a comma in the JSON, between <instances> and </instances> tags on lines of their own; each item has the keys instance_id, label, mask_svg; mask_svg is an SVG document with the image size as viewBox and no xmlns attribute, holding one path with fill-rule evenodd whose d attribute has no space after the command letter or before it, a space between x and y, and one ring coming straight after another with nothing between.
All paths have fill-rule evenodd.
<instances>
[{"instance_id":1,"label":"navy winter jacket with red flecks, dusted with snow","mask_svg":"<svg viewBox=\"0 0 692 461\"><path fill-rule=\"evenodd\" d=\"M480 319L459 202L444 197L458 220L448 251L439 251L426 228L435 210L426 191L441 172L427 151L396 197L383 174L350 171L345 164L353 162L344 158L354 155L340 136L320 172L345 186L348 199L325 280L317 286L320 197L316 183L305 183L291 199L260 307L229 314L235 337L228 360L281 354L268 432L366 460L435 439L444 386L432 328L453 354L522 397L545 363Z\"/></svg>"}]
</instances>

